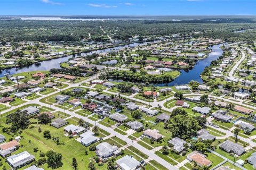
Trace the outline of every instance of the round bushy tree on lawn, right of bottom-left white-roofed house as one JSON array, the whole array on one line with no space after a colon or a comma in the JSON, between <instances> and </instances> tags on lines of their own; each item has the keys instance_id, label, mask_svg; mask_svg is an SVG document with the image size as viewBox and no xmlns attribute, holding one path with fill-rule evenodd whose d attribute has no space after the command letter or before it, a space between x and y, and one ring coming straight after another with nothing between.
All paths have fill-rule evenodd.
<instances>
[{"instance_id":1,"label":"round bushy tree on lawn, right of bottom-left white-roofed house","mask_svg":"<svg viewBox=\"0 0 256 170\"><path fill-rule=\"evenodd\" d=\"M47 157L47 164L52 168L57 168L62 165L62 155L58 152L55 152L53 150L49 150L46 152Z\"/></svg>"}]
</instances>

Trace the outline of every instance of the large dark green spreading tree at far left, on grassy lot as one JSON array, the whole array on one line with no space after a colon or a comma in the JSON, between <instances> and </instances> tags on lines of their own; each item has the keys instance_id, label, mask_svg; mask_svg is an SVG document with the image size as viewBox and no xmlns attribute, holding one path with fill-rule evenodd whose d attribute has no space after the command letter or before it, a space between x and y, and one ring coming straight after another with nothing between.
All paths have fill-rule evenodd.
<instances>
[{"instance_id":1,"label":"large dark green spreading tree at far left, on grassy lot","mask_svg":"<svg viewBox=\"0 0 256 170\"><path fill-rule=\"evenodd\" d=\"M11 131L17 132L19 129L27 129L30 123L29 115L27 112L21 112L20 110L7 115L6 123L11 123Z\"/></svg>"}]
</instances>

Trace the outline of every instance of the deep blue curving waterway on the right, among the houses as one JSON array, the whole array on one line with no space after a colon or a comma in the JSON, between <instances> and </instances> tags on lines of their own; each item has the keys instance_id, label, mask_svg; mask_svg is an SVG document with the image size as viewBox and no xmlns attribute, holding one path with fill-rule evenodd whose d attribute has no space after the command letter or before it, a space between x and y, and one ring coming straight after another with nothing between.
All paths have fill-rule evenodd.
<instances>
[{"instance_id":1,"label":"deep blue curving waterway on the right, among the houses","mask_svg":"<svg viewBox=\"0 0 256 170\"><path fill-rule=\"evenodd\" d=\"M180 76L172 82L155 84L155 86L176 86L181 84L188 84L191 80L203 83L200 74L204 71L204 68L206 66L210 66L213 60L217 60L222 55L223 50L220 48L222 45L223 44L219 44L210 47L212 49L212 52L208 54L207 58L204 58L203 60L198 60L197 64L194 66L194 69L187 71L181 70Z\"/></svg>"}]
</instances>

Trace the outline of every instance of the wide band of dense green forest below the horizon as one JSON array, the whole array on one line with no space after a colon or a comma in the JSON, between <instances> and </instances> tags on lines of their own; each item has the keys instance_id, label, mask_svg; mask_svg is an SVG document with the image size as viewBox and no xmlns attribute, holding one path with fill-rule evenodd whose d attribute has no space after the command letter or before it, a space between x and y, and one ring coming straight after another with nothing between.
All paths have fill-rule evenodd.
<instances>
[{"instance_id":1,"label":"wide band of dense green forest below the horizon","mask_svg":"<svg viewBox=\"0 0 256 170\"><path fill-rule=\"evenodd\" d=\"M82 16L73 18L82 18ZM173 17L170 16L170 18ZM107 40L107 35L103 33L100 26L114 39L128 39L132 35L168 36L180 32L183 35L200 32L194 36L230 41L247 41L256 38L256 18L253 16L240 16L240 18L238 16L233 18L231 16L227 18L198 16L198 18L198 20L175 21L170 20L168 16L162 18L152 16L151 20L147 16L144 20L116 18L105 21L43 21L9 18L1 20L0 18L0 41L77 41L89 38L89 33L93 40Z\"/></svg>"}]
</instances>

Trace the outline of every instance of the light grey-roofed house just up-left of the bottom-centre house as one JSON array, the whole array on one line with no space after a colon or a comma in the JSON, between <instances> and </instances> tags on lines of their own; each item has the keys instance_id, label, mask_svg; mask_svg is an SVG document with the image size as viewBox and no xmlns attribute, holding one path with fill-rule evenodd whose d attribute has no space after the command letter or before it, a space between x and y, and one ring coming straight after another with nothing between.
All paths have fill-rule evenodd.
<instances>
[{"instance_id":1,"label":"light grey-roofed house just up-left of the bottom-centre house","mask_svg":"<svg viewBox=\"0 0 256 170\"><path fill-rule=\"evenodd\" d=\"M118 150L118 147L115 145L110 145L107 142L102 142L99 145L96 146L96 154L100 156L101 158L107 158L114 154L116 150Z\"/></svg>"}]
</instances>

